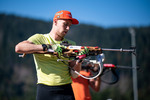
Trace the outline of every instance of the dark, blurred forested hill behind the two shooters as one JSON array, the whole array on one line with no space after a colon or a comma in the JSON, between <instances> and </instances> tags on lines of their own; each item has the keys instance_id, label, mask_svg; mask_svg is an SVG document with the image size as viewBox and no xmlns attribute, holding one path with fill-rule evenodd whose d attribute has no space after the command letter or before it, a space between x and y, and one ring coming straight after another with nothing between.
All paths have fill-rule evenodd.
<instances>
[{"instance_id":1,"label":"dark, blurred forested hill behind the two shooters","mask_svg":"<svg viewBox=\"0 0 150 100\"><path fill-rule=\"evenodd\" d=\"M35 33L48 33L52 22L0 14L0 98L2 100L35 100L36 71L31 55L19 58L14 48L20 41ZM139 100L150 98L150 26L133 27L136 32ZM79 24L72 26L66 38L77 45L99 46L102 48L129 48L131 36L129 27L103 28ZM131 66L131 54L104 52L105 63ZM142 72L141 72L142 71ZM133 100L132 71L117 70L120 81L115 85L102 83L99 93L92 92L94 100ZM27 96L28 95L28 96Z\"/></svg>"}]
</instances>

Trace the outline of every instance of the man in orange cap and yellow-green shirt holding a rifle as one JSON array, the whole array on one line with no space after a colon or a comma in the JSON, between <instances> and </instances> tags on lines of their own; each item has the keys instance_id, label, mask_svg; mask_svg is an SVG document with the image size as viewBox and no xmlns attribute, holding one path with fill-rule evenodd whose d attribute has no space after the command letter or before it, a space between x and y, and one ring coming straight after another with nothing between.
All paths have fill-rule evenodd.
<instances>
[{"instance_id":1,"label":"man in orange cap and yellow-green shirt holding a rifle","mask_svg":"<svg viewBox=\"0 0 150 100\"><path fill-rule=\"evenodd\" d=\"M50 54L37 54L52 49L61 56L62 49L60 43L68 41L75 45L75 42L65 39L64 36L72 24L78 24L79 21L72 18L69 11L59 11L53 18L53 26L48 34L35 34L28 40L18 43L15 47L17 53L33 53L34 62L37 71L37 100L74 100L74 94L71 87L71 75L76 77L75 73L70 75L69 68L63 62L57 62L57 57ZM80 71L81 61L68 62L76 71ZM72 72L72 71L71 71Z\"/></svg>"}]
</instances>

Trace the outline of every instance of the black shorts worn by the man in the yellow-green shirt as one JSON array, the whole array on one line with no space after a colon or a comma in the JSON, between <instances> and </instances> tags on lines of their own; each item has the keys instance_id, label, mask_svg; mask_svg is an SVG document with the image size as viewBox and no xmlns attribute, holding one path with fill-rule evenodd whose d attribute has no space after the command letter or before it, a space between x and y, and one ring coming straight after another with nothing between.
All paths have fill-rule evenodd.
<instances>
[{"instance_id":1,"label":"black shorts worn by the man in the yellow-green shirt","mask_svg":"<svg viewBox=\"0 0 150 100\"><path fill-rule=\"evenodd\" d=\"M75 100L71 84L61 86L37 85L36 100Z\"/></svg>"}]
</instances>

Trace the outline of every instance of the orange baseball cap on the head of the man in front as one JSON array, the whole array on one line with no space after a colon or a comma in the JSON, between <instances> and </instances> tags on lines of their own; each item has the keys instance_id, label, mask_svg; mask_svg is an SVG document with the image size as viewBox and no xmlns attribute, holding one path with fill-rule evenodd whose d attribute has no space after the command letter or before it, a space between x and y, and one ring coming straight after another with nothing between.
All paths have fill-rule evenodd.
<instances>
[{"instance_id":1,"label":"orange baseball cap on the head of the man in front","mask_svg":"<svg viewBox=\"0 0 150 100\"><path fill-rule=\"evenodd\" d=\"M70 19L70 20L72 20L72 24L79 24L79 21L77 19L72 18L71 12L66 11L66 10L58 11L55 14L53 20L55 20L55 19Z\"/></svg>"}]
</instances>

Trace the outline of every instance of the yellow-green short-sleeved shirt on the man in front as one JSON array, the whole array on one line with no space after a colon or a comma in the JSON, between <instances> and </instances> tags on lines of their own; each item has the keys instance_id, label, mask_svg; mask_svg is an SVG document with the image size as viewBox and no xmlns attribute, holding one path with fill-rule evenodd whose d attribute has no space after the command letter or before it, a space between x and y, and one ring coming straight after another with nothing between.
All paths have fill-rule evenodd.
<instances>
[{"instance_id":1,"label":"yellow-green short-sleeved shirt on the man in front","mask_svg":"<svg viewBox=\"0 0 150 100\"><path fill-rule=\"evenodd\" d=\"M49 34L35 34L28 41L34 44L57 44L62 41L54 41ZM68 41L69 44L75 45L75 42ZM72 82L69 68L63 62L57 62L57 57L50 54L33 54L37 71L37 84L45 84L49 86L65 85ZM66 58L61 58L66 59Z\"/></svg>"}]
</instances>

